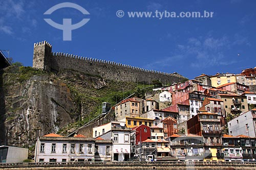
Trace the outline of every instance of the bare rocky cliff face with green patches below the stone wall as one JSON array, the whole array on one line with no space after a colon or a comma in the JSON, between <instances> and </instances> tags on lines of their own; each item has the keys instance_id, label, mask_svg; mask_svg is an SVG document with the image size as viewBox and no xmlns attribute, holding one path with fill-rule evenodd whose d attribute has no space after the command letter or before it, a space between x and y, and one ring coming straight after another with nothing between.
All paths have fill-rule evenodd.
<instances>
[{"instance_id":1,"label":"bare rocky cliff face with green patches below the stone wall","mask_svg":"<svg viewBox=\"0 0 256 170\"><path fill-rule=\"evenodd\" d=\"M0 142L28 148L37 136L66 135L98 115L102 102L117 101L113 91L134 88L131 83L107 82L72 70L55 75L31 67L7 67L0 70Z\"/></svg>"}]
</instances>

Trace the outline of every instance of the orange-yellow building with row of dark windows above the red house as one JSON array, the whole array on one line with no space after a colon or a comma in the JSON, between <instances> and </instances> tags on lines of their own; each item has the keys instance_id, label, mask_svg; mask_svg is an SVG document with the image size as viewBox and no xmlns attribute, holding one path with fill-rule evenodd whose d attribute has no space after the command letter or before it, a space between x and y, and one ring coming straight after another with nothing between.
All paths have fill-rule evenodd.
<instances>
[{"instance_id":1,"label":"orange-yellow building with row of dark windows above the red house","mask_svg":"<svg viewBox=\"0 0 256 170\"><path fill-rule=\"evenodd\" d=\"M134 128L140 125L152 127L154 119L142 117L125 117L125 125L127 128Z\"/></svg>"}]
</instances>

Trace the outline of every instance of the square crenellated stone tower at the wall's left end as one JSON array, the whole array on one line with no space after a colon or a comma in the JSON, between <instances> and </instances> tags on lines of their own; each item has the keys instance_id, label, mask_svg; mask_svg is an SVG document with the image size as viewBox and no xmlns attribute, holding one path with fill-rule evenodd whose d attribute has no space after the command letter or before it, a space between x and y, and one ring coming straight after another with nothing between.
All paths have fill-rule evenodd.
<instances>
[{"instance_id":1,"label":"square crenellated stone tower at the wall's left end","mask_svg":"<svg viewBox=\"0 0 256 170\"><path fill-rule=\"evenodd\" d=\"M33 67L50 71L52 45L46 41L34 43Z\"/></svg>"}]
</instances>

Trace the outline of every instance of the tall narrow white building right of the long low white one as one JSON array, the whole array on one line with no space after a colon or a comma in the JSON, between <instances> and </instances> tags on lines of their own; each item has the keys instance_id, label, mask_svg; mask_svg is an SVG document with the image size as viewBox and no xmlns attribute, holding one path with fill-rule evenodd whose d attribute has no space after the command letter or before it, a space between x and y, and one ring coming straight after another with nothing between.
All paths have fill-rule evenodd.
<instances>
[{"instance_id":1,"label":"tall narrow white building right of the long low white one","mask_svg":"<svg viewBox=\"0 0 256 170\"><path fill-rule=\"evenodd\" d=\"M106 130L106 131L105 131ZM93 134L100 135L104 140L112 140L112 161L125 161L131 157L131 129L126 128L125 122L116 122L93 128Z\"/></svg>"}]
</instances>

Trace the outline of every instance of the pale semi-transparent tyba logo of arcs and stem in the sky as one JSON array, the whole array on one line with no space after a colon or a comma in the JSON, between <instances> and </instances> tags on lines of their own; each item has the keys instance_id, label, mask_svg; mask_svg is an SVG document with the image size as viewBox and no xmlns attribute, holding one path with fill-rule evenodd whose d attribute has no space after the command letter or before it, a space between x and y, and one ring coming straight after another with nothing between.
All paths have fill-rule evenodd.
<instances>
[{"instance_id":1,"label":"pale semi-transparent tyba logo of arcs and stem in the sky","mask_svg":"<svg viewBox=\"0 0 256 170\"><path fill-rule=\"evenodd\" d=\"M77 9L78 11L80 11L82 14L84 15L90 15L90 13L82 8L81 6L74 4L74 3L60 3L57 4L55 6L53 6L52 8L48 9L44 15L50 15L52 14L54 11L61 9L61 8L74 8ZM63 23L62 25L59 23L54 22L52 19L49 18L44 18L44 20L49 23L49 25L51 25L52 27L59 29L59 30L63 30L63 41L71 41L72 40L72 30L78 29L80 27L82 27L83 25L85 25L90 19L88 18L83 18L80 22L75 23L74 25L72 25L72 19L71 18L63 18Z\"/></svg>"}]
</instances>

